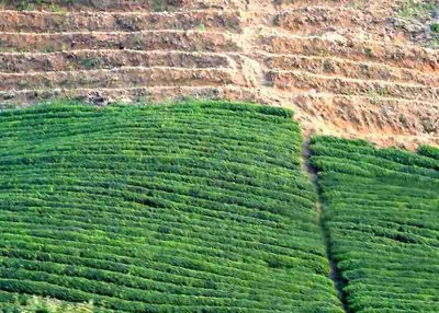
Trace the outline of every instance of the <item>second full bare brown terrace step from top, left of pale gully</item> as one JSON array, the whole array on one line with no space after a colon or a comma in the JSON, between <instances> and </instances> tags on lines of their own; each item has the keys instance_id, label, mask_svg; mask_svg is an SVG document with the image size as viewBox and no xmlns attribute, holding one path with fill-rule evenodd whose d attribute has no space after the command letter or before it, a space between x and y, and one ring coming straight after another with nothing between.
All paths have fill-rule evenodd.
<instances>
[{"instance_id":1,"label":"second full bare brown terrace step from top, left of pale gully","mask_svg":"<svg viewBox=\"0 0 439 313\"><path fill-rule=\"evenodd\" d=\"M3 51L54 53L70 49L239 51L235 34L207 31L0 33Z\"/></svg>"}]
</instances>

